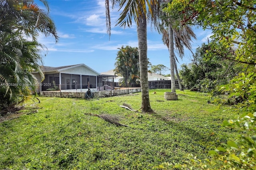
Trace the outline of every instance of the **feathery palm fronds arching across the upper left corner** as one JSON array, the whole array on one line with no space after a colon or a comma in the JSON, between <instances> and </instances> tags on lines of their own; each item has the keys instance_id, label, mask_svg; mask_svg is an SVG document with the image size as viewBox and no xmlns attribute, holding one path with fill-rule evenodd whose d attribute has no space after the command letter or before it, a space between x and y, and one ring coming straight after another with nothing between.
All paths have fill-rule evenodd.
<instances>
[{"instance_id":1,"label":"feathery palm fronds arching across the upper left corner","mask_svg":"<svg viewBox=\"0 0 256 170\"><path fill-rule=\"evenodd\" d=\"M56 26L49 15L49 5L43 2L46 11L38 7L34 0L1 1L0 26L2 32L16 32L36 39L39 33L54 36L58 41Z\"/></svg>"}]
</instances>

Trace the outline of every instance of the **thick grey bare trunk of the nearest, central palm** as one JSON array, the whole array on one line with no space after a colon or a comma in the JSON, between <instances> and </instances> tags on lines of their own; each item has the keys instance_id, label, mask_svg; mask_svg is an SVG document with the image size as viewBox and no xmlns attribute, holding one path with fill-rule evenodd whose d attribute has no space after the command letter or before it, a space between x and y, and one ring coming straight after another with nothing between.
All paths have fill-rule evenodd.
<instances>
[{"instance_id":1,"label":"thick grey bare trunk of the nearest, central palm","mask_svg":"<svg viewBox=\"0 0 256 170\"><path fill-rule=\"evenodd\" d=\"M147 23L144 13L142 13L142 16L139 16L137 35L140 61L140 83L142 91L142 111L150 112L152 109L150 107L148 92Z\"/></svg>"}]
</instances>

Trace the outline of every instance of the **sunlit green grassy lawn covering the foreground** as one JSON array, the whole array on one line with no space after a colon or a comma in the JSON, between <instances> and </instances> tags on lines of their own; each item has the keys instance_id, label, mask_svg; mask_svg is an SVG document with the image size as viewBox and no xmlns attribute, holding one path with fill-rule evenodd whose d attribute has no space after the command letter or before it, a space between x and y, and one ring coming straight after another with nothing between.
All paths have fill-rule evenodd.
<instances>
[{"instance_id":1,"label":"sunlit green grassy lawn covering the foreground","mask_svg":"<svg viewBox=\"0 0 256 170\"><path fill-rule=\"evenodd\" d=\"M118 106L139 109L141 93L29 100L20 113L30 114L0 123L0 169L157 169L185 163L189 153L208 158L209 150L234 138L236 132L221 126L237 116L229 106L209 104L208 95L191 91L166 101L165 91L150 90L153 113ZM84 113L118 115L129 127Z\"/></svg>"}]
</instances>

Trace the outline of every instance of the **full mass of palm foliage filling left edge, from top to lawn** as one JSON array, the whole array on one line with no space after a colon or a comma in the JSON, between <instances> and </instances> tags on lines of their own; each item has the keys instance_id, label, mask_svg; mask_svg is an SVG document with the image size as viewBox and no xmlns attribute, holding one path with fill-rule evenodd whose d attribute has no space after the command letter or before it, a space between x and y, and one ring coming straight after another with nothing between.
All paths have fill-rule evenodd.
<instances>
[{"instance_id":1,"label":"full mass of palm foliage filling left edge, from top to lawn","mask_svg":"<svg viewBox=\"0 0 256 170\"><path fill-rule=\"evenodd\" d=\"M42 1L47 11L41 10L33 0L4 0L0 2L0 109L22 103L34 91L37 80L32 71L42 63L37 42L39 33L53 35L58 40L54 22L49 16L47 1ZM32 40L26 39L31 37Z\"/></svg>"}]
</instances>

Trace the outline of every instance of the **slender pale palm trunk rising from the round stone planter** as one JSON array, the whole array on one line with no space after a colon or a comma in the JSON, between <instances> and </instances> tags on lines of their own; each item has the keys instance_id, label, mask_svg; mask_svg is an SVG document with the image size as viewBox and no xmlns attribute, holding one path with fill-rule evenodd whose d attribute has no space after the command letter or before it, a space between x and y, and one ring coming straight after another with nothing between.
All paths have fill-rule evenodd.
<instances>
[{"instance_id":1,"label":"slender pale palm trunk rising from the round stone planter","mask_svg":"<svg viewBox=\"0 0 256 170\"><path fill-rule=\"evenodd\" d=\"M175 88L175 75L174 75L174 38L172 25L169 23L169 52L170 52L170 70L171 70L171 89L172 92L176 92Z\"/></svg>"}]
</instances>

